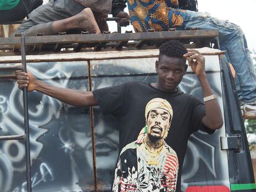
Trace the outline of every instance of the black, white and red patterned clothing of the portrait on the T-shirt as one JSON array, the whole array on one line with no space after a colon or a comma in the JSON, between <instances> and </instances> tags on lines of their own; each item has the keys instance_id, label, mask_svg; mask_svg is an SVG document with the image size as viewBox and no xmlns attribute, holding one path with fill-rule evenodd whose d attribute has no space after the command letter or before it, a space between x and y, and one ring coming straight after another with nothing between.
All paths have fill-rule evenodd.
<instances>
[{"instance_id":1,"label":"black, white and red patterned clothing of the portrait on the T-shirt","mask_svg":"<svg viewBox=\"0 0 256 192\"><path fill-rule=\"evenodd\" d=\"M145 135L144 137L145 138ZM176 191L179 162L176 152L164 142L163 148L150 163L142 138L122 149L115 170L113 191L148 192Z\"/></svg>"}]
</instances>

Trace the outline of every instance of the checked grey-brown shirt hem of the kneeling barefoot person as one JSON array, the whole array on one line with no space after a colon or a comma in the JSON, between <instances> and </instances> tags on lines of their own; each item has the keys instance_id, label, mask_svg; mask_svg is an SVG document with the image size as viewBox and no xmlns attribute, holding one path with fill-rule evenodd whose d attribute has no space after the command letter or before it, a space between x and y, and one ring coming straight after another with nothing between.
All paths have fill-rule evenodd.
<instances>
[{"instance_id":1,"label":"checked grey-brown shirt hem of the kneeling barefoot person","mask_svg":"<svg viewBox=\"0 0 256 192\"><path fill-rule=\"evenodd\" d=\"M112 1L111 0L75 0L85 7L90 7L96 12L103 14L111 14Z\"/></svg>"}]
</instances>

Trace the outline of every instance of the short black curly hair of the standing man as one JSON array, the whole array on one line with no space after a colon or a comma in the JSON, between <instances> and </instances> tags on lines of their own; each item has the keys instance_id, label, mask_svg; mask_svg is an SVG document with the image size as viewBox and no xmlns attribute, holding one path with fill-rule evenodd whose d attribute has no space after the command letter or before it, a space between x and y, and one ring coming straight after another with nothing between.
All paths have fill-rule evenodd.
<instances>
[{"instance_id":1,"label":"short black curly hair of the standing man","mask_svg":"<svg viewBox=\"0 0 256 192\"><path fill-rule=\"evenodd\" d=\"M159 58L163 55L168 57L183 58L183 55L187 53L187 49L184 44L177 40L169 40L164 42L159 48Z\"/></svg>"}]
</instances>

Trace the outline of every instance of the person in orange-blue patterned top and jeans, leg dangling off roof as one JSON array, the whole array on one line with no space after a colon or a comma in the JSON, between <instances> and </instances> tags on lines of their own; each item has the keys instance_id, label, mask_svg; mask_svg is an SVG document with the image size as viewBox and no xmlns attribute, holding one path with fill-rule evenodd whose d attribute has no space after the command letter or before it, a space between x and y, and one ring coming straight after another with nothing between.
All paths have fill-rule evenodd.
<instances>
[{"instance_id":1,"label":"person in orange-blue patterned top and jeans, leg dangling off roof","mask_svg":"<svg viewBox=\"0 0 256 192\"><path fill-rule=\"evenodd\" d=\"M124 2L125 3L125 2ZM147 30L218 30L221 50L234 66L241 88L241 109L247 119L256 119L256 74L244 33L234 23L211 17L207 13L179 9L179 2L129 0L130 20L137 32ZM237 86L237 90L239 87Z\"/></svg>"}]
</instances>

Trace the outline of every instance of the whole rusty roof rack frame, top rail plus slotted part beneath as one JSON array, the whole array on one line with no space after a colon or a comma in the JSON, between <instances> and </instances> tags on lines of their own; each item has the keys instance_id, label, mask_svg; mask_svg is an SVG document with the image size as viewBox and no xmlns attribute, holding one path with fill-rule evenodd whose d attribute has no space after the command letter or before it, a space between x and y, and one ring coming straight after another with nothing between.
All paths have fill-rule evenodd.
<instances>
[{"instance_id":1,"label":"whole rusty roof rack frame, top rail plus slotted part beneath","mask_svg":"<svg viewBox=\"0 0 256 192\"><path fill-rule=\"evenodd\" d=\"M44 52L110 51L121 49L156 49L166 40L180 40L190 48L210 46L218 30L155 31L144 33L73 34L51 36L26 36L27 54ZM20 37L0 38L0 55L17 55ZM194 44L191 44L194 43ZM33 49L38 47L39 49Z\"/></svg>"}]
</instances>

